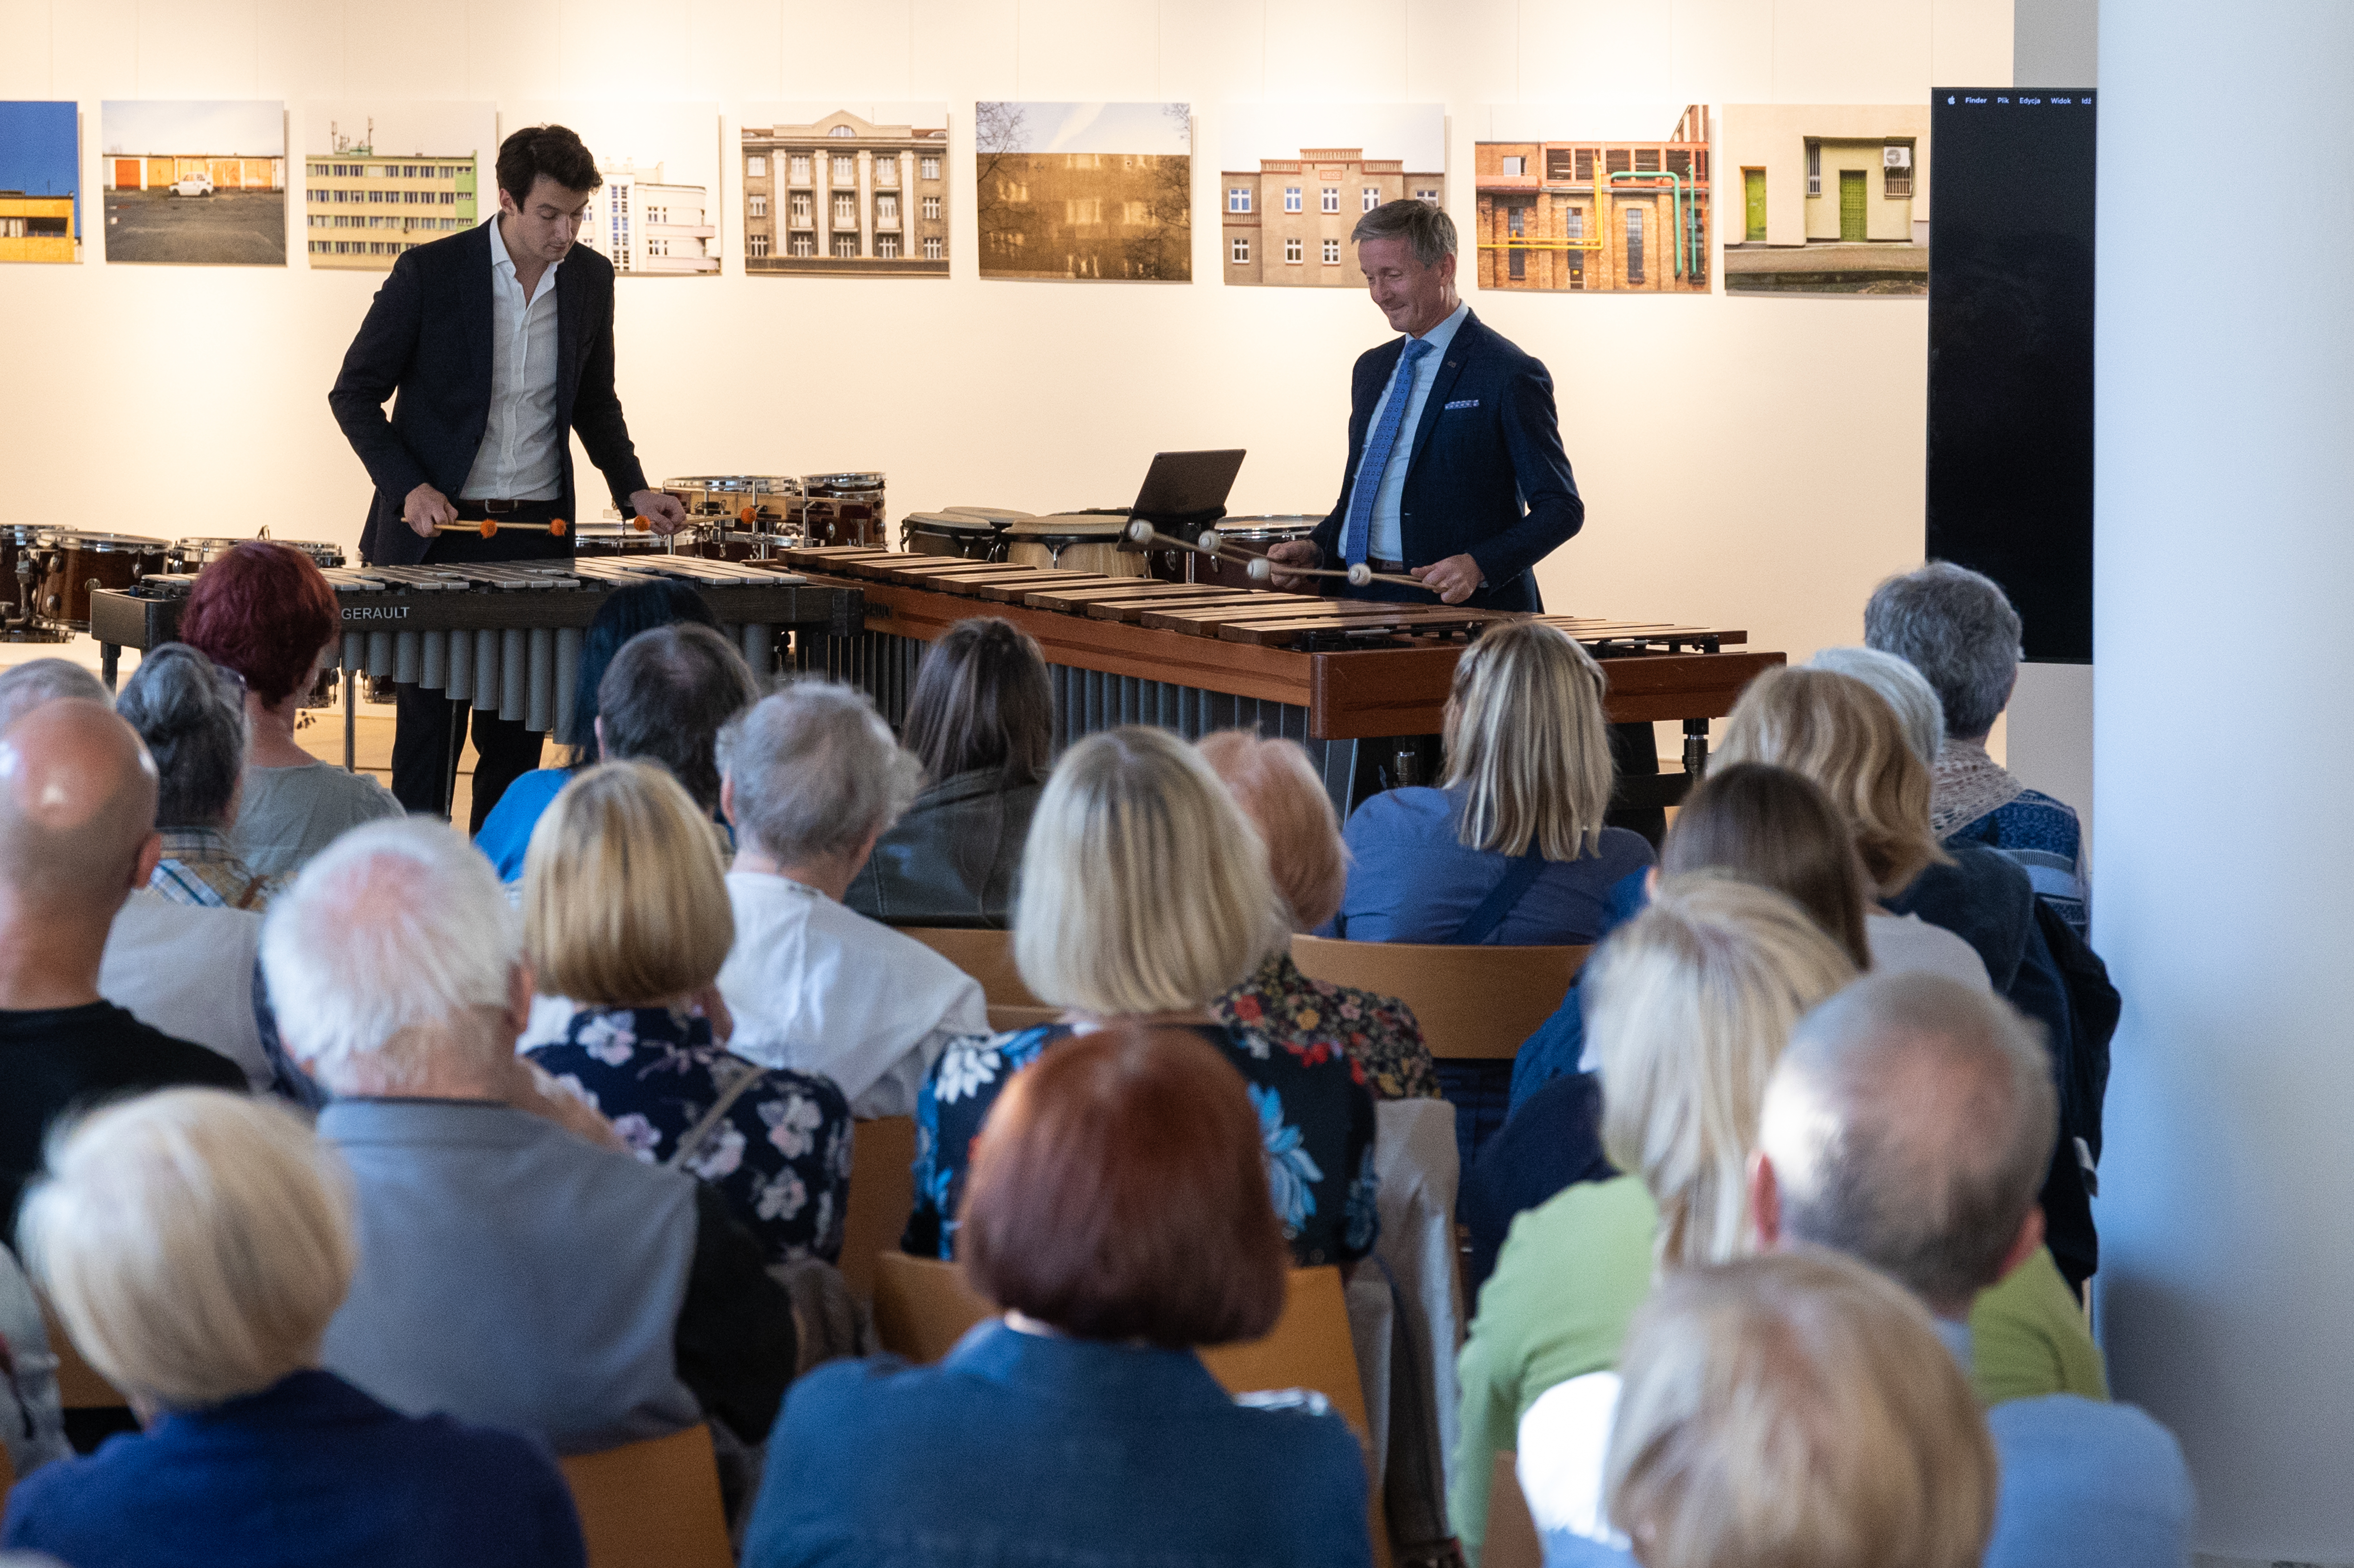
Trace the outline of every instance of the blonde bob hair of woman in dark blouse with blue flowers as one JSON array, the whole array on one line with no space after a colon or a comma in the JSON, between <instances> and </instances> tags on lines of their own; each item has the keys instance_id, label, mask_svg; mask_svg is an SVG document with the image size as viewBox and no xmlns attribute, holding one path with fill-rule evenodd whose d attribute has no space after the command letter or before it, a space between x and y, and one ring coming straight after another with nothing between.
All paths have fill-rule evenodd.
<instances>
[{"instance_id":1,"label":"blonde bob hair of woman in dark blouse with blue flowers","mask_svg":"<svg viewBox=\"0 0 2354 1568\"><path fill-rule=\"evenodd\" d=\"M1015 966L1040 1001L1191 1013L1285 936L1266 846L1191 745L1109 729L1055 764L1015 898Z\"/></svg>"}]
</instances>

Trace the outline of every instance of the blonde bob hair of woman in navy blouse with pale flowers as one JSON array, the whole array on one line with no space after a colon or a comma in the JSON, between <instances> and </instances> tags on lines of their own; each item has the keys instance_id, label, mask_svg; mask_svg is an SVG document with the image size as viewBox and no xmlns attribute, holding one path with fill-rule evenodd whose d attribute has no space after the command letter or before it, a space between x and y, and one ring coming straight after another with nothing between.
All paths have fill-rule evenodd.
<instances>
[{"instance_id":1,"label":"blonde bob hair of woman in navy blouse with pale flowers","mask_svg":"<svg viewBox=\"0 0 2354 1568\"><path fill-rule=\"evenodd\" d=\"M523 853L523 954L544 997L652 1006L711 985L734 945L718 839L652 762L567 783Z\"/></svg>"}]
</instances>

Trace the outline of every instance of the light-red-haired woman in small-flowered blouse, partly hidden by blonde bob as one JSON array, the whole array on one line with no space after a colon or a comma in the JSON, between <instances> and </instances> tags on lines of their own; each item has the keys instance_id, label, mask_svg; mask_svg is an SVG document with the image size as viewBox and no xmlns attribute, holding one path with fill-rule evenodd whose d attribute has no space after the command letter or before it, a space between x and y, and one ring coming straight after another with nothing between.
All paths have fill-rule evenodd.
<instances>
[{"instance_id":1,"label":"light-red-haired woman in small-flowered blouse, partly hidden by blonde bob","mask_svg":"<svg viewBox=\"0 0 2354 1568\"><path fill-rule=\"evenodd\" d=\"M1339 910L1349 849L1339 813L1297 741L1222 729L1193 743L1250 825L1266 842L1266 870L1295 933L1314 931ZM1311 980L1278 943L1259 969L1210 1004L1222 1023L1295 1048L1339 1041L1379 1100L1438 1098L1438 1070L1422 1025L1396 997Z\"/></svg>"}]
</instances>

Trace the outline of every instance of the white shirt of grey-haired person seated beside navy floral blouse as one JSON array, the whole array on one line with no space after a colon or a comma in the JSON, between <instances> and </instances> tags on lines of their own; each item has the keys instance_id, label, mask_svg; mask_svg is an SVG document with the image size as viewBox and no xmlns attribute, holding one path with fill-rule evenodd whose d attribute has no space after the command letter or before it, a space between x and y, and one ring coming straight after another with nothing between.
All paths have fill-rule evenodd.
<instances>
[{"instance_id":1,"label":"white shirt of grey-haired person seated beside navy floral blouse","mask_svg":"<svg viewBox=\"0 0 2354 1568\"><path fill-rule=\"evenodd\" d=\"M989 1034L982 983L913 936L767 872L727 872L737 940L720 966L727 1048L822 1072L857 1117L904 1117L960 1034Z\"/></svg>"}]
</instances>

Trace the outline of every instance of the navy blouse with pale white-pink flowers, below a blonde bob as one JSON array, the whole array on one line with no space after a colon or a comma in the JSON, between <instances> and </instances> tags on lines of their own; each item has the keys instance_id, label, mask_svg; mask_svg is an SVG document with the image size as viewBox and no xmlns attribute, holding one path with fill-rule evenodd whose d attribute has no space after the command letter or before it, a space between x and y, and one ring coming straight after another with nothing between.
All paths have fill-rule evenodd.
<instances>
[{"instance_id":1,"label":"navy blouse with pale white-pink flowers, below a blonde bob","mask_svg":"<svg viewBox=\"0 0 2354 1568\"><path fill-rule=\"evenodd\" d=\"M730 1056L711 1020L664 1006L581 1009L563 1041L525 1058L603 1112L650 1166L669 1164L720 1093L756 1074L685 1171L720 1190L770 1262L840 1258L850 1103L833 1079Z\"/></svg>"}]
</instances>

